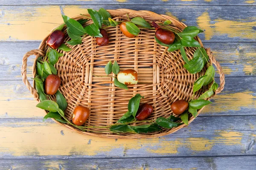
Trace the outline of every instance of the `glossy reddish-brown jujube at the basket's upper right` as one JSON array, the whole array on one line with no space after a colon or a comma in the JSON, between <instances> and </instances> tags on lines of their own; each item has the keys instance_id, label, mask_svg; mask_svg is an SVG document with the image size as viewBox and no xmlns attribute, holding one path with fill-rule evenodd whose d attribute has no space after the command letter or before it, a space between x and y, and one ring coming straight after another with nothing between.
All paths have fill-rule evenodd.
<instances>
[{"instance_id":1,"label":"glossy reddish-brown jujube at the basket's upper right","mask_svg":"<svg viewBox=\"0 0 256 170\"><path fill-rule=\"evenodd\" d=\"M175 39L175 35L172 31L168 31L166 29L159 28L155 32L155 36L160 42L163 42L164 44L172 44Z\"/></svg>"}]
</instances>

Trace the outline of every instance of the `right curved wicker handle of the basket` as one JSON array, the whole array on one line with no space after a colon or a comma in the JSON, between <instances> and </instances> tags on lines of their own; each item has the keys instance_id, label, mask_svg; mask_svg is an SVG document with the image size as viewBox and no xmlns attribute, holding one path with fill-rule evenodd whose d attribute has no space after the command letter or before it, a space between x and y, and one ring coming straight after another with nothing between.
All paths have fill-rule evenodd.
<instances>
[{"instance_id":1,"label":"right curved wicker handle of the basket","mask_svg":"<svg viewBox=\"0 0 256 170\"><path fill-rule=\"evenodd\" d=\"M209 59L212 61L212 63L216 66L219 74L220 74L220 86L215 91L215 94L220 93L224 89L225 85L225 75L223 73L223 69L220 65L220 63L215 59L215 57L212 55L212 52L210 51L210 48L207 48L207 54L209 55Z\"/></svg>"}]
</instances>

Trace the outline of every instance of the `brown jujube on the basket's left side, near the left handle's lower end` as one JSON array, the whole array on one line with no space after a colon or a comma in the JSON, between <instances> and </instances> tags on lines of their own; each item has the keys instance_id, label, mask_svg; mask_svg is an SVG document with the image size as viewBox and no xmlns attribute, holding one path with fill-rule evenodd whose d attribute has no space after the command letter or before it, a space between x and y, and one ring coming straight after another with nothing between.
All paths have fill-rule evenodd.
<instances>
[{"instance_id":1,"label":"brown jujube on the basket's left side, near the left handle's lower end","mask_svg":"<svg viewBox=\"0 0 256 170\"><path fill-rule=\"evenodd\" d=\"M61 78L55 74L50 74L45 79L44 90L46 94L53 95L61 85Z\"/></svg>"}]
</instances>

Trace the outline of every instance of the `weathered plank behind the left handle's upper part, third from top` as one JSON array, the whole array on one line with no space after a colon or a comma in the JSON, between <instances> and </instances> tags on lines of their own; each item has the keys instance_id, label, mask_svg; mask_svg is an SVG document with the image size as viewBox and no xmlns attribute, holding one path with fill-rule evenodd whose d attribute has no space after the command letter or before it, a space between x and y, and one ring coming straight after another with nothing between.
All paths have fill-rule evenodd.
<instances>
[{"instance_id":1,"label":"weathered plank behind the left handle's upper part, third from top","mask_svg":"<svg viewBox=\"0 0 256 170\"><path fill-rule=\"evenodd\" d=\"M0 80L20 80L23 55L37 49L39 44L40 42L0 42ZM211 48L226 77L256 75L256 42L204 42L204 45ZM35 56L28 58L29 77L32 77L34 58Z\"/></svg>"}]
</instances>

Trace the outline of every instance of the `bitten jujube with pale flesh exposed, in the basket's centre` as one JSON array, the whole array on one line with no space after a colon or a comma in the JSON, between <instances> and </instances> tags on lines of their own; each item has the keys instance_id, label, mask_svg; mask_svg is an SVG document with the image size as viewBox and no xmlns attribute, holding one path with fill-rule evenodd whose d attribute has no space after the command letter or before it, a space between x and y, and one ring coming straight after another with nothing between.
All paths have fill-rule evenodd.
<instances>
[{"instance_id":1,"label":"bitten jujube with pale flesh exposed, in the basket's centre","mask_svg":"<svg viewBox=\"0 0 256 170\"><path fill-rule=\"evenodd\" d=\"M120 71L117 74L117 80L125 85L137 85L138 73L132 69Z\"/></svg>"}]
</instances>

